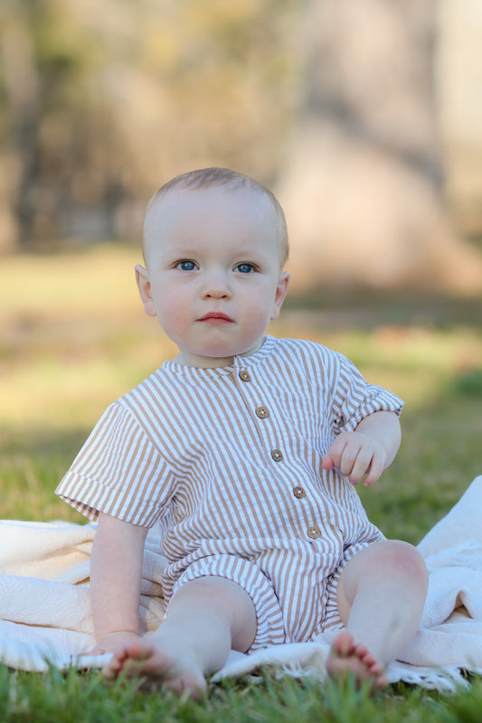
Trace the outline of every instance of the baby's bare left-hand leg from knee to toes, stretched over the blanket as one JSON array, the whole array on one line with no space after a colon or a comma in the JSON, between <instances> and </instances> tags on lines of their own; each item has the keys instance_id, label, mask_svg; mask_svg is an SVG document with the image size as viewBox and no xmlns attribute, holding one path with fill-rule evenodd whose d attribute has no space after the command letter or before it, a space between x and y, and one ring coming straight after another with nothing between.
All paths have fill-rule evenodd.
<instances>
[{"instance_id":1,"label":"baby's bare left-hand leg from knee to toes, stretched over the blanket","mask_svg":"<svg viewBox=\"0 0 482 723\"><path fill-rule=\"evenodd\" d=\"M224 577L199 577L173 597L165 622L151 638L114 654L107 674L149 677L176 694L205 692L206 676L222 668L230 650L244 653L256 634L250 596Z\"/></svg>"}]
</instances>

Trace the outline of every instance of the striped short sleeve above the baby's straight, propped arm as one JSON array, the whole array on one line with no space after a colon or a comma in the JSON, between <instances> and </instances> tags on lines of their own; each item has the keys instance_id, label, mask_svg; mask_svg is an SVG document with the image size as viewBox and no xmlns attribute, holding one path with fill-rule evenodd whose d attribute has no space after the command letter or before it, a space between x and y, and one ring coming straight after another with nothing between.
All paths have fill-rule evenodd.
<instances>
[{"instance_id":1,"label":"striped short sleeve above the baby's straight, propped arm","mask_svg":"<svg viewBox=\"0 0 482 723\"><path fill-rule=\"evenodd\" d=\"M137 418L115 402L99 419L55 493L90 520L105 512L152 527L163 515L169 477Z\"/></svg>"}]
</instances>

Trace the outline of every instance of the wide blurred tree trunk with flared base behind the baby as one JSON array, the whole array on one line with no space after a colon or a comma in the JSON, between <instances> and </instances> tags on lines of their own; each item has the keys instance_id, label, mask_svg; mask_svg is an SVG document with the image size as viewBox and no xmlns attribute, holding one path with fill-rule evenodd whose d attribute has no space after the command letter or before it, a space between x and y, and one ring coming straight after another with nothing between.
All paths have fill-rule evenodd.
<instances>
[{"instance_id":1,"label":"wide blurred tree trunk with flared base behind the baby","mask_svg":"<svg viewBox=\"0 0 482 723\"><path fill-rule=\"evenodd\" d=\"M279 196L295 286L482 288L444 202L437 0L307 0Z\"/></svg>"}]
</instances>

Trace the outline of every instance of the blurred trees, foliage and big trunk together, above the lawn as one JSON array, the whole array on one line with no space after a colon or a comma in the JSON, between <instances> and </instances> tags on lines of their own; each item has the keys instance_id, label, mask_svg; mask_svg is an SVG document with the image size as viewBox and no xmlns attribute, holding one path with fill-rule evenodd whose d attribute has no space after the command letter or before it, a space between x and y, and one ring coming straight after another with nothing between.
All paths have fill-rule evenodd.
<instances>
[{"instance_id":1,"label":"blurred trees, foliage and big trunk together, above the lawn","mask_svg":"<svg viewBox=\"0 0 482 723\"><path fill-rule=\"evenodd\" d=\"M219 164L279 193L295 288L479 296L481 38L479 0L3 0L0 249L137 239Z\"/></svg>"}]
</instances>

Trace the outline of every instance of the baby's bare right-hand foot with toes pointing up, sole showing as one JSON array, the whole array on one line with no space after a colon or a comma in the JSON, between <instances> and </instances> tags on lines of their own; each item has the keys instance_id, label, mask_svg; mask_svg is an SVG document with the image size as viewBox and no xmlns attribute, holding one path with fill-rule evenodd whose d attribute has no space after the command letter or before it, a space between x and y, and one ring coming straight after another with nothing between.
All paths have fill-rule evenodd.
<instances>
[{"instance_id":1,"label":"baby's bare right-hand foot with toes pointing up, sole showing","mask_svg":"<svg viewBox=\"0 0 482 723\"><path fill-rule=\"evenodd\" d=\"M353 674L358 683L372 681L373 690L388 684L380 663L364 645L355 644L353 635L348 631L340 633L333 641L326 661L326 671L330 678L335 680Z\"/></svg>"}]
</instances>

